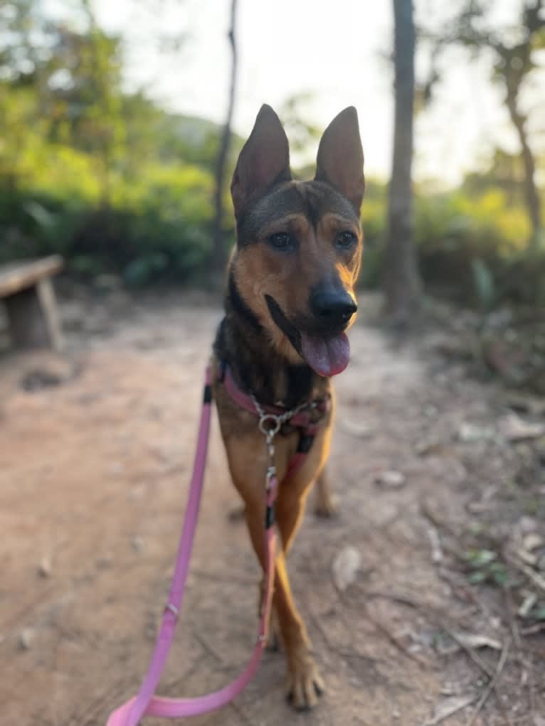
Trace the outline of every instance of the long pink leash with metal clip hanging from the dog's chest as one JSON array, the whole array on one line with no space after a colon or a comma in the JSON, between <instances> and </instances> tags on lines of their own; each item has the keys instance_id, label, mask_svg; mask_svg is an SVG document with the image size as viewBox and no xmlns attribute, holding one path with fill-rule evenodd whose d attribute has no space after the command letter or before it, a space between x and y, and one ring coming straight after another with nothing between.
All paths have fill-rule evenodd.
<instances>
[{"instance_id":1,"label":"long pink leash with metal clip hanging from the dog's chest","mask_svg":"<svg viewBox=\"0 0 545 726\"><path fill-rule=\"evenodd\" d=\"M208 449L211 415L211 373L206 368L206 385L204 387L203 409L201 422L198 429L197 451L193 463L193 476L191 477L189 499L185 513L182 537L180 537L174 576L171 582L168 604L163 613L161 630L159 631L155 650L151 658L148 674L140 688L140 693L135 698L127 701L110 715L107 726L137 726L142 716L162 716L166 718L179 718L184 716L196 716L225 706L232 701L241 691L246 688L257 670L259 659L265 643L267 642L267 627L269 623L270 608L273 600L273 580L275 576L275 530L273 526L273 509L276 498L278 481L273 465L273 438L278 433L264 427L260 422L260 430L265 434L267 446L271 457L271 466L267 470L266 487L266 568L265 568L265 595L262 606L261 619L257 643L251 660L241 675L230 685L225 686L216 693L209 693L200 698L161 698L155 696L155 691L163 672L166 658L169 655L170 646L176 629L179 610L182 606L182 597L185 587L185 579L189 568L191 550L193 548L193 536L198 518L199 505L203 489L204 468L206 465L206 452ZM269 416L269 418L273 418ZM270 422L267 422L270 423Z\"/></svg>"}]
</instances>

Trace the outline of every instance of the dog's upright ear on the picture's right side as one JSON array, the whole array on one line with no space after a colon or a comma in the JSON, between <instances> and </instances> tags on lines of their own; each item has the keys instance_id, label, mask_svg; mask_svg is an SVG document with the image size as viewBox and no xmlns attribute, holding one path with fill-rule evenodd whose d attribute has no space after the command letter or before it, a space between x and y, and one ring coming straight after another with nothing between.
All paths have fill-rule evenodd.
<instances>
[{"instance_id":1,"label":"dog's upright ear on the picture's right side","mask_svg":"<svg viewBox=\"0 0 545 726\"><path fill-rule=\"evenodd\" d=\"M316 181L327 181L360 213L365 181L358 113L345 108L329 124L320 140L316 159Z\"/></svg>"}]
</instances>

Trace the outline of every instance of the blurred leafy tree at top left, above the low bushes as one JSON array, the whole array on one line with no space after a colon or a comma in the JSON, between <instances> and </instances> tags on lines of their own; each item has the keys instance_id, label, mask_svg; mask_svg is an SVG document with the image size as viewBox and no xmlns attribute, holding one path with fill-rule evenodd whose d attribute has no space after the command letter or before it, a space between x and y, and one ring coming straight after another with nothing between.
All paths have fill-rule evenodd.
<instances>
[{"instance_id":1,"label":"blurred leafy tree at top left, above the low bushes","mask_svg":"<svg viewBox=\"0 0 545 726\"><path fill-rule=\"evenodd\" d=\"M113 165L124 155L121 39L98 27L89 0L70 5L86 17L84 32L70 12L49 15L44 0L0 0L0 172L15 184L14 160L39 129L42 142L68 144L94 159L108 206Z\"/></svg>"}]
</instances>

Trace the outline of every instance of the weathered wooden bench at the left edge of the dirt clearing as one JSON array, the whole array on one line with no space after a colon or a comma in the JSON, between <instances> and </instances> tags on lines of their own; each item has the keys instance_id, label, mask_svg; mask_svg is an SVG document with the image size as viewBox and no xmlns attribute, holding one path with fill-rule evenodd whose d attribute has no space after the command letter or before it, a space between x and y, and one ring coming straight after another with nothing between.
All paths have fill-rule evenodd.
<instances>
[{"instance_id":1,"label":"weathered wooden bench at the left edge of the dirt clearing","mask_svg":"<svg viewBox=\"0 0 545 726\"><path fill-rule=\"evenodd\" d=\"M62 334L51 278L62 258L20 260L0 265L0 298L4 299L12 345L48 346L60 350Z\"/></svg>"}]
</instances>

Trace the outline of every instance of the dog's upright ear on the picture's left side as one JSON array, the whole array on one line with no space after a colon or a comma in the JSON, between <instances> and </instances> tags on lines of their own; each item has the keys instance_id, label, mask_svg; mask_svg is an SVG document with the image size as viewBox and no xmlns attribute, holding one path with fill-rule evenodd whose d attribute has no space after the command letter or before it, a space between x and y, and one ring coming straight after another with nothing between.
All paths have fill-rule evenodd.
<instances>
[{"instance_id":1,"label":"dog's upright ear on the picture's left side","mask_svg":"<svg viewBox=\"0 0 545 726\"><path fill-rule=\"evenodd\" d=\"M235 216L267 189L290 179L288 137L273 109L264 104L233 174L231 197Z\"/></svg>"}]
</instances>

